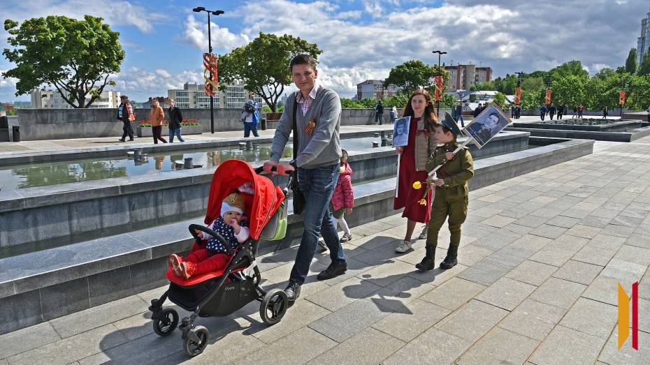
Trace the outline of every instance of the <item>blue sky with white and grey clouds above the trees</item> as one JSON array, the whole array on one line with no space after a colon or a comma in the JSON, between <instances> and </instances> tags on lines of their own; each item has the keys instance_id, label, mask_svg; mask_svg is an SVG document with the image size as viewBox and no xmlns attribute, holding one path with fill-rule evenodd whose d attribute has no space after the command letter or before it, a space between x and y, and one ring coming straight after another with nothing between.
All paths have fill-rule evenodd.
<instances>
[{"instance_id":1,"label":"blue sky with white and grey clouds above the trees","mask_svg":"<svg viewBox=\"0 0 650 365\"><path fill-rule=\"evenodd\" d=\"M641 0L3 0L0 21L85 14L120 31L127 57L115 77L132 100L166 95L184 82L201 82L208 47L207 15L194 6L224 10L212 17L212 46L224 54L259 33L300 36L323 50L319 80L343 96L356 84L385 78L409 59L490 66L503 76L547 70L571 59L590 73L625 63L636 47L650 1ZM0 29L0 48L8 47ZM12 65L0 58L0 72ZM15 95L15 80L0 78L0 100Z\"/></svg>"}]
</instances>

